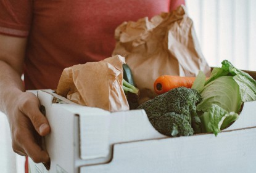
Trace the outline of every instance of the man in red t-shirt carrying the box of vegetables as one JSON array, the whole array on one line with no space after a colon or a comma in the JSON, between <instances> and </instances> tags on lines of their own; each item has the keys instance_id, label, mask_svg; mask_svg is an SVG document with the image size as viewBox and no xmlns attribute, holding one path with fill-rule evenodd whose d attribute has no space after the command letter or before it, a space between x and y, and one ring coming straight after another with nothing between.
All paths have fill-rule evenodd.
<instances>
[{"instance_id":1,"label":"man in red t-shirt carrying the box of vegetables","mask_svg":"<svg viewBox=\"0 0 256 173\"><path fill-rule=\"evenodd\" d=\"M111 56L122 22L181 4L184 0L1 0L0 108L9 119L15 153L35 163L50 159L36 140L49 134L49 123L39 100L25 90L56 89L65 67Z\"/></svg>"}]
</instances>

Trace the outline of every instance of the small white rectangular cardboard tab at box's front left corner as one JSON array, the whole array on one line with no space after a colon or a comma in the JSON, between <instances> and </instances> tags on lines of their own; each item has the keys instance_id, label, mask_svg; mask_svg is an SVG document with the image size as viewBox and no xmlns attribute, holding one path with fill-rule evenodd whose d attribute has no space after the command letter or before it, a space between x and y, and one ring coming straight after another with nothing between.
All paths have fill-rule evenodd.
<instances>
[{"instance_id":1,"label":"small white rectangular cardboard tab at box's front left corner","mask_svg":"<svg viewBox=\"0 0 256 173\"><path fill-rule=\"evenodd\" d=\"M84 107L81 111L79 122L81 159L107 158L110 150L110 112L88 107Z\"/></svg>"}]
</instances>

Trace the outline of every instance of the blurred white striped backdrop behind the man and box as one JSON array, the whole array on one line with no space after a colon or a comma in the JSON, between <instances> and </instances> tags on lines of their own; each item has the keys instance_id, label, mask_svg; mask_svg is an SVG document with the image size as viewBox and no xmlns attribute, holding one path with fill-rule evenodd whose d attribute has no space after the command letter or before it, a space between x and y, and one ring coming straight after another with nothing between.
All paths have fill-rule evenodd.
<instances>
[{"instance_id":1,"label":"blurred white striped backdrop behind the man and box","mask_svg":"<svg viewBox=\"0 0 256 173\"><path fill-rule=\"evenodd\" d=\"M226 59L256 71L256 0L188 0L186 7L210 66ZM0 112L1 172L24 173L23 162L12 151L8 121Z\"/></svg>"}]
</instances>

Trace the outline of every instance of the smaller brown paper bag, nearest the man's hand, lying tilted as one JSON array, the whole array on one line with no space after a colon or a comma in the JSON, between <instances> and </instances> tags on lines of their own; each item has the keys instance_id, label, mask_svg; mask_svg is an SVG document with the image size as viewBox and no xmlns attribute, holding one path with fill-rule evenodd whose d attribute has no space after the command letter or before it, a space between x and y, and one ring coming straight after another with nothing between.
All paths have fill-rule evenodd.
<instances>
[{"instance_id":1,"label":"smaller brown paper bag, nearest the man's hand, lying tilted","mask_svg":"<svg viewBox=\"0 0 256 173\"><path fill-rule=\"evenodd\" d=\"M72 102L107 111L129 110L122 88L123 63L120 55L100 62L88 62L65 68L60 76L57 94Z\"/></svg>"}]
</instances>

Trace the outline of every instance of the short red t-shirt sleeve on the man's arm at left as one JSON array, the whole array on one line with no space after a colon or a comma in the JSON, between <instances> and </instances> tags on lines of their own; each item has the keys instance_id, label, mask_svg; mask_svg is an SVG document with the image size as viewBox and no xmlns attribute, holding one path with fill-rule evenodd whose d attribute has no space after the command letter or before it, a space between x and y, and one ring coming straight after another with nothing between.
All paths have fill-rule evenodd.
<instances>
[{"instance_id":1,"label":"short red t-shirt sleeve on the man's arm at left","mask_svg":"<svg viewBox=\"0 0 256 173\"><path fill-rule=\"evenodd\" d=\"M33 0L0 1L0 33L26 37L30 31Z\"/></svg>"}]
</instances>

